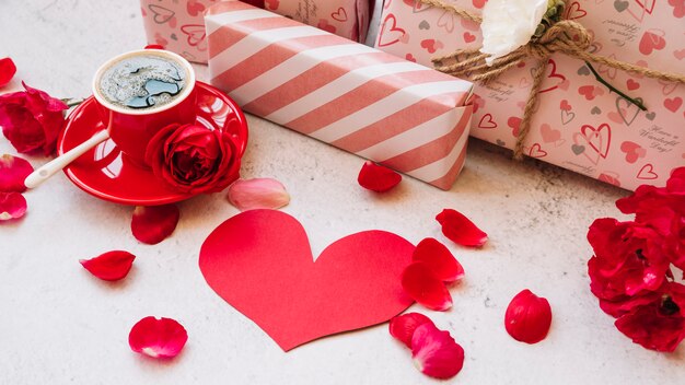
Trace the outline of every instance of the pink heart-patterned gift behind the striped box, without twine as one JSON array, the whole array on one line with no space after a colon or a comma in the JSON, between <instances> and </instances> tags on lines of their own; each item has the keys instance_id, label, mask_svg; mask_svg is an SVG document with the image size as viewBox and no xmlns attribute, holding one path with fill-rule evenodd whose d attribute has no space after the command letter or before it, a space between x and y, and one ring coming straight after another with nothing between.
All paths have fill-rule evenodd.
<instances>
[{"instance_id":1,"label":"pink heart-patterned gift behind the striped box, without twine","mask_svg":"<svg viewBox=\"0 0 685 385\"><path fill-rule=\"evenodd\" d=\"M204 12L207 8L235 0L140 0L148 44L207 63ZM371 7L369 0L246 0L339 36L363 42ZM371 2L373 3L373 1Z\"/></svg>"}]
</instances>

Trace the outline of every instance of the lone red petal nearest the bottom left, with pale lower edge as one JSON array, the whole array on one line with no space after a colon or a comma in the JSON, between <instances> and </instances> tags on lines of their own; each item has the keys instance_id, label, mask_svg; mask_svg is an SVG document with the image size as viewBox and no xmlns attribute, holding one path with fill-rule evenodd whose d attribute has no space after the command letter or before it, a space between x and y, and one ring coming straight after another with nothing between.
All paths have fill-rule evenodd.
<instances>
[{"instance_id":1,"label":"lone red petal nearest the bottom left, with pale lower edge","mask_svg":"<svg viewBox=\"0 0 685 385\"><path fill-rule=\"evenodd\" d=\"M131 350L155 359L178 355L188 340L186 329L171 318L144 317L128 335Z\"/></svg>"}]
</instances>

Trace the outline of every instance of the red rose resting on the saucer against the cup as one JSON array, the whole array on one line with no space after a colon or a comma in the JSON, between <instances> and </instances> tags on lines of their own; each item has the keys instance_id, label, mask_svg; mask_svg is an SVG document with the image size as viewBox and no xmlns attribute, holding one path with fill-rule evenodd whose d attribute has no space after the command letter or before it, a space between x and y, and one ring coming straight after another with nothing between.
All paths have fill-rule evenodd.
<instances>
[{"instance_id":1,"label":"red rose resting on the saucer against the cup","mask_svg":"<svg viewBox=\"0 0 685 385\"><path fill-rule=\"evenodd\" d=\"M173 124L148 143L152 172L179 191L217 192L240 177L240 154L230 135L204 126Z\"/></svg>"}]
</instances>

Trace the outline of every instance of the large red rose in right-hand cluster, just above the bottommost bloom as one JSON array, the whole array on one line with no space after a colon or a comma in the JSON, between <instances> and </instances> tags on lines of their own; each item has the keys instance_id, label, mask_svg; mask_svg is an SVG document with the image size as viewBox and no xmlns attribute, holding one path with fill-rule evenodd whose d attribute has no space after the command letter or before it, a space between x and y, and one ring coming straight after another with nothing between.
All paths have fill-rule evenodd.
<instances>
[{"instance_id":1,"label":"large red rose in right-hand cluster, just above the bottommost bloom","mask_svg":"<svg viewBox=\"0 0 685 385\"><path fill-rule=\"evenodd\" d=\"M588 262L592 293L601 300L620 302L659 289L670 271L662 240L654 230L635 222L595 220L588 232L594 249Z\"/></svg>"}]
</instances>

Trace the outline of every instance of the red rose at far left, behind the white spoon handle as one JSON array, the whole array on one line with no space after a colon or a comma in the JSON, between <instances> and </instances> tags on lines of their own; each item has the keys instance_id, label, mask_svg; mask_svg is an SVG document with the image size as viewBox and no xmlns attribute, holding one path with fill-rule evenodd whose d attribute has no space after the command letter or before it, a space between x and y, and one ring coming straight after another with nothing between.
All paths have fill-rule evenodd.
<instances>
[{"instance_id":1,"label":"red rose at far left, behind the white spoon handle","mask_svg":"<svg viewBox=\"0 0 685 385\"><path fill-rule=\"evenodd\" d=\"M53 154L68 106L43 91L22 84L25 92L0 95L2 133L19 152Z\"/></svg>"}]
</instances>

